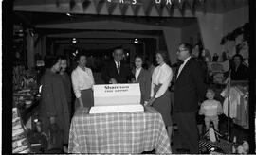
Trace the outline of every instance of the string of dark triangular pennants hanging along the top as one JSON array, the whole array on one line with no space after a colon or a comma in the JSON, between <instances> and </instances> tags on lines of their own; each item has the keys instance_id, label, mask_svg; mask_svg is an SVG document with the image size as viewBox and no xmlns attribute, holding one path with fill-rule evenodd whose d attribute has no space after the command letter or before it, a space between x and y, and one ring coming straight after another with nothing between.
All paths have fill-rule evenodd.
<instances>
[{"instance_id":1,"label":"string of dark triangular pennants hanging along the top","mask_svg":"<svg viewBox=\"0 0 256 155\"><path fill-rule=\"evenodd\" d=\"M126 14L129 6L131 6L134 15L137 15L140 8L144 10L148 16L155 7L159 16L162 15L163 9L167 9L170 16L173 15L174 9L179 9L181 14L184 14L186 9L190 9L192 13L195 12L197 7L205 7L207 0L68 0L70 10L74 9L76 3L82 3L83 10L86 10L92 3L96 9L97 14L100 14L104 5L107 7L108 14L112 14L119 6L122 15ZM60 6L61 0L56 0L56 6Z\"/></svg>"}]
</instances>

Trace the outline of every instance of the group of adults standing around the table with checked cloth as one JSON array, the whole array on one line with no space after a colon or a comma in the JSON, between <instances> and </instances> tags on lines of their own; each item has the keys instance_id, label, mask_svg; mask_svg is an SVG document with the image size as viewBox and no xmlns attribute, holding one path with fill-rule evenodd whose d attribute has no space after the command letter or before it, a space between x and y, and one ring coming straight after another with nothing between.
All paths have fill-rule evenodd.
<instances>
[{"instance_id":1,"label":"group of adults standing around the table with checked cloth","mask_svg":"<svg viewBox=\"0 0 256 155\"><path fill-rule=\"evenodd\" d=\"M140 103L152 106L161 113L170 137L172 135L172 104L169 87L173 77L176 78L173 105L180 139L184 144L182 147L188 148L191 153L198 153L196 113L198 103L202 102L205 97L206 85L203 69L195 60L192 60L191 53L192 46L189 43L178 45L177 58L183 63L174 76L172 68L167 64L169 58L167 51L156 51L155 60L158 66L153 72L142 67L143 57L137 55L135 57L136 69L133 72L122 61L123 49L118 47L113 50L114 59L103 68L101 78L106 84L139 83ZM84 54L77 57L77 62L78 66L71 74L71 83L76 96L75 105L76 108L90 108L93 106L94 77L91 69L85 67L86 56ZM47 124L57 122L61 129L64 129L64 143L67 143L71 111L69 108L71 94L67 92L71 91L71 84L68 76L62 74L65 68L61 65L62 59L53 59L48 64L48 69L42 78L42 113L46 122L43 124L47 127Z\"/></svg>"}]
</instances>

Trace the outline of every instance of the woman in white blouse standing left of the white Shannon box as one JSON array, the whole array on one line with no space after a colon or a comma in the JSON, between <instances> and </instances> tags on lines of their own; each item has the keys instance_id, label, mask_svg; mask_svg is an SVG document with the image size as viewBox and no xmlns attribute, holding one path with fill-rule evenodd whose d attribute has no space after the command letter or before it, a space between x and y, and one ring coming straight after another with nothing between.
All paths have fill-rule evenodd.
<instances>
[{"instance_id":1,"label":"woman in white blouse standing left of the white Shannon box","mask_svg":"<svg viewBox=\"0 0 256 155\"><path fill-rule=\"evenodd\" d=\"M77 57L78 66L71 74L73 90L76 95L75 106L90 108L94 105L93 85L95 84L92 70L85 67L86 56L80 53Z\"/></svg>"}]
</instances>

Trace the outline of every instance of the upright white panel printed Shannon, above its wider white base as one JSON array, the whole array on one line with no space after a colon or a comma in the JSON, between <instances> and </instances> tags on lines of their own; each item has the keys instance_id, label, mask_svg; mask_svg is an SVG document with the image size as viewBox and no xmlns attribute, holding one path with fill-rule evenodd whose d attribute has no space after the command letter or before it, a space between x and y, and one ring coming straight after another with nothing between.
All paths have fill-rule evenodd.
<instances>
[{"instance_id":1,"label":"upright white panel printed Shannon, above its wider white base","mask_svg":"<svg viewBox=\"0 0 256 155\"><path fill-rule=\"evenodd\" d=\"M133 84L101 84L93 86L94 106L140 104L140 88Z\"/></svg>"}]
</instances>

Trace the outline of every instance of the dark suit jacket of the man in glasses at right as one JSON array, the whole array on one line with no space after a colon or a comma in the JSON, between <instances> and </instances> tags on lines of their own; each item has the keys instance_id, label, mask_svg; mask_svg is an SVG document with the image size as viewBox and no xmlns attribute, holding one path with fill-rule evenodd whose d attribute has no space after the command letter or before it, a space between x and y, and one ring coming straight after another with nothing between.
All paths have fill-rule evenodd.
<instances>
[{"instance_id":1,"label":"dark suit jacket of the man in glasses at right","mask_svg":"<svg viewBox=\"0 0 256 155\"><path fill-rule=\"evenodd\" d=\"M198 102L206 94L203 68L195 60L188 60L174 85L174 112L196 112Z\"/></svg>"}]
</instances>

